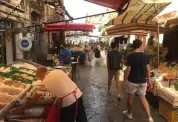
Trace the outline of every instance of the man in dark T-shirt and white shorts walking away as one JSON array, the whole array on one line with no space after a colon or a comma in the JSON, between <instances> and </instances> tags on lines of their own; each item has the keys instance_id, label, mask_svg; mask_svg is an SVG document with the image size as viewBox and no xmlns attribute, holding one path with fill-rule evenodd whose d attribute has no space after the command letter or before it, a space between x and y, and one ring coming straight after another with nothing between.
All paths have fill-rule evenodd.
<instances>
[{"instance_id":1,"label":"man in dark T-shirt and white shorts walking away","mask_svg":"<svg viewBox=\"0 0 178 122\"><path fill-rule=\"evenodd\" d=\"M134 51L127 57L127 69L125 71L123 87L128 93L127 110L123 114L132 119L132 107L134 95L137 94L148 117L148 122L153 122L150 114L150 108L145 98L147 84L152 87L150 82L150 68L148 56L143 52L142 41L136 39L133 42ZM147 78L147 80L146 80Z\"/></svg>"}]
</instances>

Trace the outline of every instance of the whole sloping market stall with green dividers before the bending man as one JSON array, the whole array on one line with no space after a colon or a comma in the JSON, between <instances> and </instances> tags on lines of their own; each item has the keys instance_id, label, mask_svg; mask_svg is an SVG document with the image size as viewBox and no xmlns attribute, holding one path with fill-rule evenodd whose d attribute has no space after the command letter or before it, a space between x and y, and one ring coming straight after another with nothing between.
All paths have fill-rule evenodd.
<instances>
[{"instance_id":1,"label":"whole sloping market stall with green dividers before the bending man","mask_svg":"<svg viewBox=\"0 0 178 122\"><path fill-rule=\"evenodd\" d=\"M11 65L0 65L0 120L31 121L45 120L55 96L46 92L35 75L40 64L17 61ZM47 67L48 70L52 68ZM67 74L70 68L60 67Z\"/></svg>"}]
</instances>

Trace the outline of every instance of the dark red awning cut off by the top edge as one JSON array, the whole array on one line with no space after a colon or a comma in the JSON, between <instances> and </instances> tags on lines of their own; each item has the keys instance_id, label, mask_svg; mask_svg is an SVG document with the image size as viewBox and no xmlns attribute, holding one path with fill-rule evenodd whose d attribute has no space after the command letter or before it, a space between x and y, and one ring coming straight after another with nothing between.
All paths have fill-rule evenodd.
<instances>
[{"instance_id":1,"label":"dark red awning cut off by the top edge","mask_svg":"<svg viewBox=\"0 0 178 122\"><path fill-rule=\"evenodd\" d=\"M85 0L112 9L124 7L130 0Z\"/></svg>"}]
</instances>

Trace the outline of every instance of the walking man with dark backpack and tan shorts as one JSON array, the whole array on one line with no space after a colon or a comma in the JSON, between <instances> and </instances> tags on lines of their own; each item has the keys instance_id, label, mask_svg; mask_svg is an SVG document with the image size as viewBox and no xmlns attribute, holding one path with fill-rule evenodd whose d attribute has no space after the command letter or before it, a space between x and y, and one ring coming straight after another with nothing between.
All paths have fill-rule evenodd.
<instances>
[{"instance_id":1,"label":"walking man with dark backpack and tan shorts","mask_svg":"<svg viewBox=\"0 0 178 122\"><path fill-rule=\"evenodd\" d=\"M122 54L118 51L117 43L111 43L112 50L107 54L107 68L108 68L108 91L110 91L112 85L113 76L116 81L117 87L117 96L121 99L120 95L120 80L119 80L119 72L121 70L122 65Z\"/></svg>"}]
</instances>

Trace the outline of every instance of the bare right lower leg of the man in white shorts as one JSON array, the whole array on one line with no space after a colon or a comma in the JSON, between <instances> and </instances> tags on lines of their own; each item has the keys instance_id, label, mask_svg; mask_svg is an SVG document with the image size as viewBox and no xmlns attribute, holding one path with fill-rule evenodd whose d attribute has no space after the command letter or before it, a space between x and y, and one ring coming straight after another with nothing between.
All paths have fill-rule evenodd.
<instances>
[{"instance_id":1,"label":"bare right lower leg of the man in white shorts","mask_svg":"<svg viewBox=\"0 0 178 122\"><path fill-rule=\"evenodd\" d=\"M151 114L150 114L150 107L149 107L149 104L148 104L148 101L147 99L145 98L145 96L139 96L140 98L140 101L145 109L145 112L147 114L148 117L151 117Z\"/></svg>"}]
</instances>

